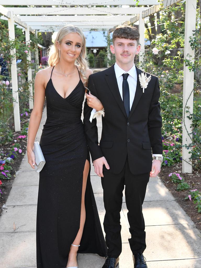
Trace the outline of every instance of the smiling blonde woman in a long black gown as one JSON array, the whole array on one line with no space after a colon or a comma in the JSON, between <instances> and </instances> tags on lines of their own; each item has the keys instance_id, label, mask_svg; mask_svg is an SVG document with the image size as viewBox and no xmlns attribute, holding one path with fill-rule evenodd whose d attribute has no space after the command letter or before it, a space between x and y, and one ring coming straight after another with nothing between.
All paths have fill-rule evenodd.
<instances>
[{"instance_id":1,"label":"smiling blonde woman in a long black gown","mask_svg":"<svg viewBox=\"0 0 201 268\"><path fill-rule=\"evenodd\" d=\"M27 143L32 168L33 143L45 97L47 101L47 120L40 139L46 164L39 180L37 268L75 268L77 252L106 256L81 121L88 76L92 73L85 58L83 32L72 25L65 26L50 48L49 67L39 71L35 78ZM92 102L96 110L103 108L96 97L92 96Z\"/></svg>"}]
</instances>

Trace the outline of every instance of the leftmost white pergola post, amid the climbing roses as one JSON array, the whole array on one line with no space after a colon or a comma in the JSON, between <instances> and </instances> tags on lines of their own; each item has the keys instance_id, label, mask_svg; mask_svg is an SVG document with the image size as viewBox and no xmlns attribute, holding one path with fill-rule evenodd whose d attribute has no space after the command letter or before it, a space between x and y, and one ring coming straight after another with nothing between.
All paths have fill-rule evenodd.
<instances>
[{"instance_id":1,"label":"leftmost white pergola post, amid the climbing roses","mask_svg":"<svg viewBox=\"0 0 201 268\"><path fill-rule=\"evenodd\" d=\"M14 28L14 18L13 12L10 12L10 18L8 18L8 33L9 39L15 39L15 28ZM18 83L17 83L17 63L16 63L16 49L10 51L12 58L11 64L11 80L12 80L12 92L13 92L13 111L14 111L14 126L15 132L20 131L20 108L19 108L19 96L18 96Z\"/></svg>"}]
</instances>

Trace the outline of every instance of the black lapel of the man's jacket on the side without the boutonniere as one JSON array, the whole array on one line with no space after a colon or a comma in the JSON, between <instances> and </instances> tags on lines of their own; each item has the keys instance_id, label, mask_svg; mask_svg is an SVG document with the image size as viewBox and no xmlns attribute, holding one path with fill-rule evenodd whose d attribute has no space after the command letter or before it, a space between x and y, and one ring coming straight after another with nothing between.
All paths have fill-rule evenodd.
<instances>
[{"instance_id":1,"label":"black lapel of the man's jacket on the side without the boutonniere","mask_svg":"<svg viewBox=\"0 0 201 268\"><path fill-rule=\"evenodd\" d=\"M112 92L116 102L118 103L119 107L121 108L121 111L123 112L123 114L127 118L126 111L124 108L124 103L122 101L122 98L121 98L121 95L119 92L119 88L118 88L118 84L117 84L117 79L116 79L116 75L115 75L115 71L114 71L114 64L106 70L105 80L106 80L106 82L109 86L109 89Z\"/></svg>"}]
</instances>

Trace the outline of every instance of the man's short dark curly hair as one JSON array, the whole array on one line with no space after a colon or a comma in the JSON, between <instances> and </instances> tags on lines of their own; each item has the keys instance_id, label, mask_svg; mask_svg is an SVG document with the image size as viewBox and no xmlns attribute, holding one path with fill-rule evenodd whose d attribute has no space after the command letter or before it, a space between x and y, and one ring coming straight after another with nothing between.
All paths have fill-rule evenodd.
<instances>
[{"instance_id":1,"label":"man's short dark curly hair","mask_svg":"<svg viewBox=\"0 0 201 268\"><path fill-rule=\"evenodd\" d=\"M130 25L126 25L126 26L122 25L122 26L118 26L113 32L113 36L112 36L113 44L116 38L136 40L137 45L138 45L140 33L136 27L133 27Z\"/></svg>"}]
</instances>

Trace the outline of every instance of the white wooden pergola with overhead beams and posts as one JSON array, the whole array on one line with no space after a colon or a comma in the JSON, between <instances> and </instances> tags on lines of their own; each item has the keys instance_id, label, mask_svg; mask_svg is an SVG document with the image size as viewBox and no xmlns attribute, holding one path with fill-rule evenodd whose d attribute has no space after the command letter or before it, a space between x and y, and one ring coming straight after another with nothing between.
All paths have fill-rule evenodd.
<instances>
[{"instance_id":1,"label":"white wooden pergola with overhead beams and posts","mask_svg":"<svg viewBox=\"0 0 201 268\"><path fill-rule=\"evenodd\" d=\"M181 0L164 0L163 8L166 8ZM5 8L7 5L22 5L23 8ZM105 5L103 8L97 5ZM115 25L131 24L139 21L139 32L141 44L141 52L139 61L143 61L144 54L144 18L150 14L159 11L158 0L140 0L139 5L149 5L150 7L136 7L134 0L1 0L0 13L3 15L1 19L8 20L9 38L14 39L14 23L17 27L25 29L26 43L30 42L29 31L53 32L58 31L64 25L73 24L83 31L91 29L104 29L108 31L113 29ZM40 7L35 7L40 6ZM47 7L48 6L48 7ZM49 7L51 6L51 7ZM191 55L194 58L194 51L189 44L189 37L192 36L193 30L196 28L196 0L186 0L185 15L185 49L184 57ZM14 54L15 51L12 51ZM27 55L31 60L31 55ZM37 58L36 50L36 58ZM20 131L20 113L18 103L18 85L17 85L17 68L16 58L12 61L11 66L12 89L14 97L14 124L15 131ZM32 81L31 70L28 71L28 80ZM184 66L184 97L183 97L183 145L192 141L190 125L192 121L186 117L185 110L193 112L193 72L190 72ZM30 94L32 94L32 86L30 86ZM189 97L189 95L191 96ZM31 95L32 96L32 95ZM188 100L188 102L187 102ZM187 104L186 104L187 103ZM33 108L33 99L29 101L29 108ZM192 162L189 160L191 154L189 150L183 147L183 166L184 173L192 173Z\"/></svg>"}]
</instances>

